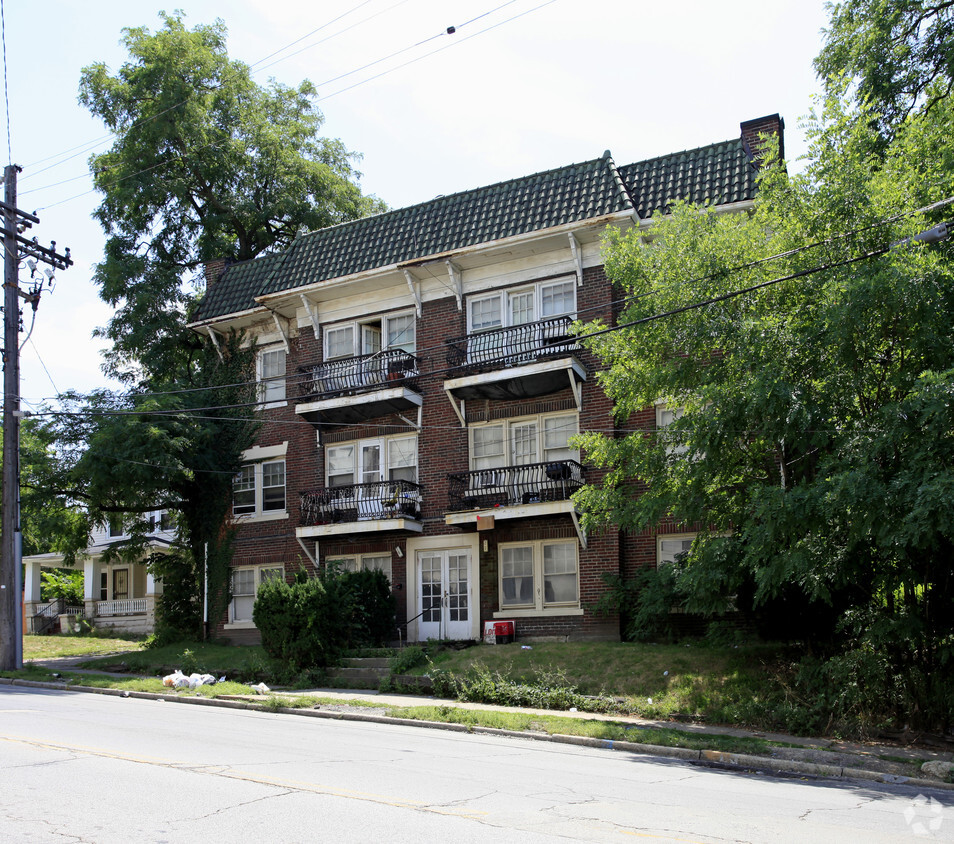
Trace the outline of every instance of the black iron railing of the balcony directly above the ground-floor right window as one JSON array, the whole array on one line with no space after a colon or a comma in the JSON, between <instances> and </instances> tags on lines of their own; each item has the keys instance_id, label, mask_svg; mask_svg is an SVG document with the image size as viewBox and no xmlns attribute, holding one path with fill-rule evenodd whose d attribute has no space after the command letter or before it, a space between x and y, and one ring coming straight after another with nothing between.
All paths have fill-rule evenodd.
<instances>
[{"instance_id":1,"label":"black iron railing of the balcony directly above the ground-floor right window","mask_svg":"<svg viewBox=\"0 0 954 844\"><path fill-rule=\"evenodd\" d=\"M566 501L584 481L583 467L576 460L477 469L447 478L452 510Z\"/></svg>"}]
</instances>

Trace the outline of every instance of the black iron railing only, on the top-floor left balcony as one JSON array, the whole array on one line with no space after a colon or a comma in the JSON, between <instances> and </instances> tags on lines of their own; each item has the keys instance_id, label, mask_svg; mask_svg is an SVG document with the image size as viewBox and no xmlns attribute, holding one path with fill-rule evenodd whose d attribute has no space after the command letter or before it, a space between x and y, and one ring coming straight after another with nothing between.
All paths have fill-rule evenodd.
<instances>
[{"instance_id":1,"label":"black iron railing only, on the top-floor left balcony","mask_svg":"<svg viewBox=\"0 0 954 844\"><path fill-rule=\"evenodd\" d=\"M403 349L330 360L298 368L298 397L322 399L397 386L418 373L417 358Z\"/></svg>"}]
</instances>

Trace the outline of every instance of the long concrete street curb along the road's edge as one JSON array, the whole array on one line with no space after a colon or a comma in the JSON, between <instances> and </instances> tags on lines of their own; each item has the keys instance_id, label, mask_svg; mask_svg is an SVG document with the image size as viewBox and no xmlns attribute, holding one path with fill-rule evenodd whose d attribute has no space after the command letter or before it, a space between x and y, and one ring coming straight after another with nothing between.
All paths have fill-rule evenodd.
<instances>
[{"instance_id":1,"label":"long concrete street curb along the road's edge","mask_svg":"<svg viewBox=\"0 0 954 844\"><path fill-rule=\"evenodd\" d=\"M885 774L881 771L868 771L864 768L851 768L838 765L823 765L816 762L801 762L797 759L774 759L768 756L753 756L747 753L728 753L722 750L692 750L687 747L665 747L656 744L637 744L631 741L613 741L611 739L592 738L590 736L567 736L560 733L522 732L505 730L500 727L481 727L469 724L448 724L442 721L418 721L413 718L395 718L390 715L376 715L361 712L336 712L322 709L293 709L290 707L266 707L256 700L222 700L207 697L181 697L179 695L157 694L155 692L129 692L119 689L100 689L94 686L79 686L74 683L48 683L40 680L20 680L0 677L0 685L24 686L26 688L49 689L51 691L84 692L86 694L108 695L110 697L136 698L139 700L167 701L169 703L188 703L194 706L216 706L222 709L246 709L258 712L271 712L276 715L298 715L305 718L324 718L333 721L361 721L371 724L393 724L402 727L421 727L432 730L447 730L454 733L472 733L474 735L502 736L522 738L531 741L545 741L556 744L572 744L578 747L592 747L600 750L614 750L633 753L639 756L662 756L679 759L693 764L726 768L740 771L761 771L768 774L795 774L803 777L822 777L829 779L859 779L885 785L904 785L912 788L933 788L954 791L954 783L929 780L921 777L905 777Z\"/></svg>"}]
</instances>

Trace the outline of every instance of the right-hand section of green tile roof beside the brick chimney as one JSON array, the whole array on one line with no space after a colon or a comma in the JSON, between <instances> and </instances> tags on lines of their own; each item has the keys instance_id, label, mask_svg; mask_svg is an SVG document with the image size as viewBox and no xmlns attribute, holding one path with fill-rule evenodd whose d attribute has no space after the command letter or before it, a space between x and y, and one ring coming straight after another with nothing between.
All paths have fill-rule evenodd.
<instances>
[{"instance_id":1,"label":"right-hand section of green tile roof beside the brick chimney","mask_svg":"<svg viewBox=\"0 0 954 844\"><path fill-rule=\"evenodd\" d=\"M755 196L755 168L741 138L627 164L619 174L643 218L668 213L679 199L727 205Z\"/></svg>"}]
</instances>

